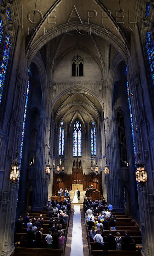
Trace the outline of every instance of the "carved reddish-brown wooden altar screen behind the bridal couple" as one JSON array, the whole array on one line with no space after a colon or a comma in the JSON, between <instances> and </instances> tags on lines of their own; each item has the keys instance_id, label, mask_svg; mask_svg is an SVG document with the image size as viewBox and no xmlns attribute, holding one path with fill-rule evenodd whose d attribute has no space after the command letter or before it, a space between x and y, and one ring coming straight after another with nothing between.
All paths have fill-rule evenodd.
<instances>
[{"instance_id":1,"label":"carved reddish-brown wooden altar screen behind the bridal couple","mask_svg":"<svg viewBox=\"0 0 154 256\"><path fill-rule=\"evenodd\" d=\"M63 171L55 174L53 171L52 195L54 196L61 187L63 191L65 188L72 190L72 185L76 183L82 185L83 190L90 188L92 184L95 189L94 191L98 190L100 191L100 195L102 195L102 172L98 175L93 171L90 174L83 174L82 164L81 161L78 162L78 159L76 162L73 162L72 174L65 174ZM77 189L77 187L75 189ZM64 196L64 192L62 196Z\"/></svg>"}]
</instances>

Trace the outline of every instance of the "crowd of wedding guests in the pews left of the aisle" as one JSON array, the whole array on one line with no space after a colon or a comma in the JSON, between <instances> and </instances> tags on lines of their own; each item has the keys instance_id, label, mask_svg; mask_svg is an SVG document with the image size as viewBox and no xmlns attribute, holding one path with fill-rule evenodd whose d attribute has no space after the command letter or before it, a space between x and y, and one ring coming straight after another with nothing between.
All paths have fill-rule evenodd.
<instances>
[{"instance_id":1,"label":"crowd of wedding guests in the pews left of the aisle","mask_svg":"<svg viewBox=\"0 0 154 256\"><path fill-rule=\"evenodd\" d=\"M49 247L51 248L52 247L53 249L54 248L62 249L65 243L65 236L67 235L67 225L68 225L68 217L69 217L67 213L69 214L70 212L70 202L69 200L66 203L64 202L64 206L62 201L58 203L58 201L54 202L52 200L52 203L53 205L54 203L56 204L55 206L56 213L57 213L57 206L59 203L61 204L62 207L61 207L61 213L59 214L58 218L57 217L56 219L52 218L50 220L50 224L49 224L49 220L46 220L46 217L44 217L45 214L43 214L43 217L42 217L42 214L35 214L36 217L37 216L40 217L39 219L38 218L36 219L35 215L33 214L33 223L29 217L29 213L26 214L25 216L26 218L24 218L24 226L26 226L26 228L22 228L20 231L27 232L27 233L26 233L26 236L24 235L24 233L21 233L22 239L20 240L20 247L27 247L27 248L49 248ZM68 209L67 209L67 204L68 204ZM49 207L51 210L52 206L49 206ZM56 227L55 227L55 224L56 224ZM23 224L21 221L21 227L22 225ZM49 228L48 232L47 232L46 226ZM62 226L64 229L62 229ZM48 235L44 235L43 230ZM15 236L16 236L16 233L15 233Z\"/></svg>"}]
</instances>

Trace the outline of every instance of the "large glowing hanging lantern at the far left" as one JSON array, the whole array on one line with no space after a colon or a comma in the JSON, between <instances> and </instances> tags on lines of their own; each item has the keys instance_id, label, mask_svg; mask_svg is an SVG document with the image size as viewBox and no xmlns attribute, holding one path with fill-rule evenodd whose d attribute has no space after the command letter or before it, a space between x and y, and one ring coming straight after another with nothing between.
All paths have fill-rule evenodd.
<instances>
[{"instance_id":1,"label":"large glowing hanging lantern at the far left","mask_svg":"<svg viewBox=\"0 0 154 256\"><path fill-rule=\"evenodd\" d=\"M17 184L18 183L19 164L20 163L17 159L17 152L16 152L16 158L12 162L12 168L11 168L11 174L10 174L10 184Z\"/></svg>"}]
</instances>

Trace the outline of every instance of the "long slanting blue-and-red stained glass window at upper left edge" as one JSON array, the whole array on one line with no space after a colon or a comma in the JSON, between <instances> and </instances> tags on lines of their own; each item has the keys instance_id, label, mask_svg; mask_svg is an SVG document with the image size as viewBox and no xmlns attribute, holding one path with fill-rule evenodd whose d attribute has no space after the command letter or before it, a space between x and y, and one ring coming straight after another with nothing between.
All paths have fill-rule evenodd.
<instances>
[{"instance_id":1,"label":"long slanting blue-and-red stained glass window at upper left edge","mask_svg":"<svg viewBox=\"0 0 154 256\"><path fill-rule=\"evenodd\" d=\"M10 38L10 34L8 34L6 36L3 55L2 55L2 61L0 65L0 104L1 104L4 84L5 84L5 76L6 76L8 60L10 56L10 50L11 50L11 38Z\"/></svg>"}]
</instances>

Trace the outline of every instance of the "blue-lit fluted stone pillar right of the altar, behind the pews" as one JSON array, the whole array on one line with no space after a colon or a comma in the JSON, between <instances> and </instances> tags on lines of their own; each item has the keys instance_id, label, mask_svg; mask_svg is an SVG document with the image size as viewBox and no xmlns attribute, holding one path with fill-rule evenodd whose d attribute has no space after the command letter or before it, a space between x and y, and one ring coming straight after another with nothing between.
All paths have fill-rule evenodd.
<instances>
[{"instance_id":1,"label":"blue-lit fluted stone pillar right of the altar, behind the pews","mask_svg":"<svg viewBox=\"0 0 154 256\"><path fill-rule=\"evenodd\" d=\"M106 134L106 157L110 174L107 177L107 201L115 212L124 210L120 177L120 154L116 117L104 118Z\"/></svg>"}]
</instances>

